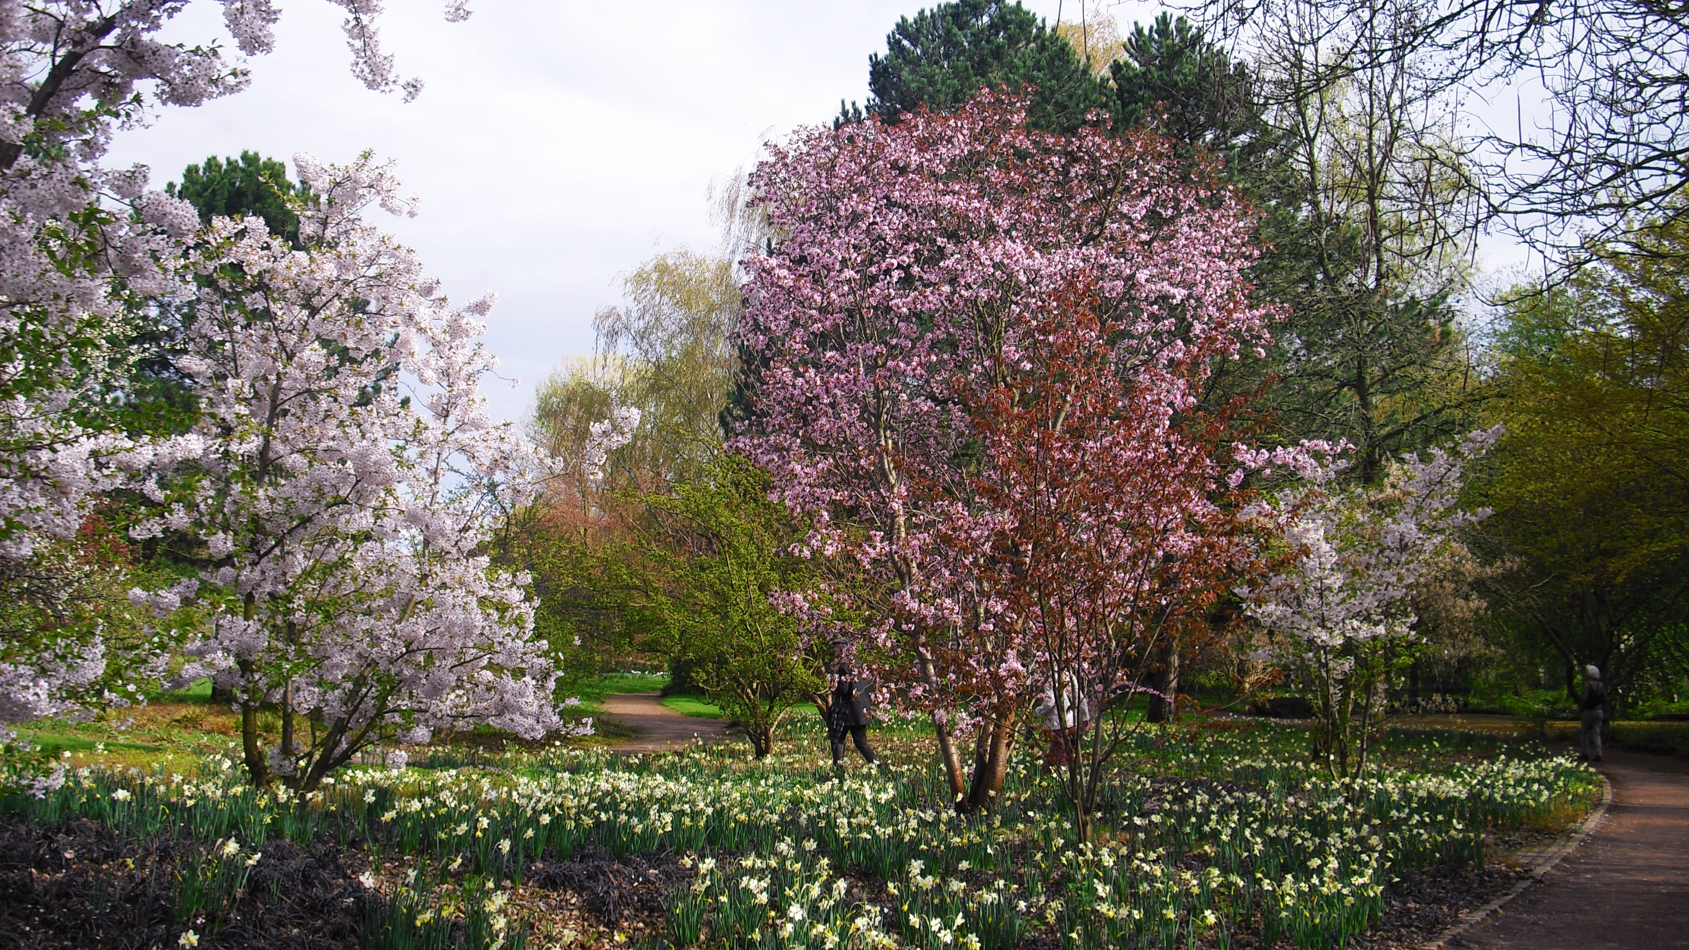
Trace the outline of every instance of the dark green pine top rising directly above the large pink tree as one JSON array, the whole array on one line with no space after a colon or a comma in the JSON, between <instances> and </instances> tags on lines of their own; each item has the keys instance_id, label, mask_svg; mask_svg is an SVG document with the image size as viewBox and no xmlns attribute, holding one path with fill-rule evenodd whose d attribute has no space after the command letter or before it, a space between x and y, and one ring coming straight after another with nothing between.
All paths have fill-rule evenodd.
<instances>
[{"instance_id":1,"label":"dark green pine top rising directly above the large pink tree","mask_svg":"<svg viewBox=\"0 0 1689 950\"><path fill-rule=\"evenodd\" d=\"M981 86L1034 86L1029 123L1073 132L1091 110L1108 106L1106 85L1061 35L1017 2L954 0L902 17L885 37L885 56L868 57L868 112L897 122L926 105L949 112ZM860 118L846 110L843 120Z\"/></svg>"}]
</instances>

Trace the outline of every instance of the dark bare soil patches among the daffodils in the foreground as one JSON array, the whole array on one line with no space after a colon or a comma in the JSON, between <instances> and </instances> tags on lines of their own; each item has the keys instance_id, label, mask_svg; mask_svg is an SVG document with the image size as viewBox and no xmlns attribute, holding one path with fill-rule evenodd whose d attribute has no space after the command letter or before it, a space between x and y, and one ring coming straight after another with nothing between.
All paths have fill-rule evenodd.
<instances>
[{"instance_id":1,"label":"dark bare soil patches among the daffodils in the foreground","mask_svg":"<svg viewBox=\"0 0 1689 950\"><path fill-rule=\"evenodd\" d=\"M1493 844L1500 845L1491 850L1496 854L1529 842ZM32 825L0 815L0 950L176 948L186 928L194 928L206 948L353 948L380 899L356 879L365 871L358 850L270 840L242 899L223 920L177 921L171 913L172 881L191 847L174 837L125 840L81 818ZM851 871L848 899L888 906L883 882L865 869ZM1350 947L1419 947L1458 923L1463 909L1500 896L1523 874L1512 864L1491 862L1483 871L1395 884L1385 894L1383 918ZM664 896L692 877L694 871L676 855L615 857L588 847L568 860L535 860L510 909L534 921L530 947L649 945L665 935ZM1030 935L1022 947L1045 950L1054 942ZM1233 947L1268 950L1253 933L1238 933Z\"/></svg>"}]
</instances>

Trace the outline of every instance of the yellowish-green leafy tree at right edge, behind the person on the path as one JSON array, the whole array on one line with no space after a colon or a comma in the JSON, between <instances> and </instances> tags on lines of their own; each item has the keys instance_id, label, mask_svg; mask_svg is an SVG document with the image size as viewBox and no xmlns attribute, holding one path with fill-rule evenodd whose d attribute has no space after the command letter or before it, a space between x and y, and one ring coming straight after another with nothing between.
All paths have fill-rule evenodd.
<instances>
[{"instance_id":1,"label":"yellowish-green leafy tree at right edge, behind the person on the path","mask_svg":"<svg viewBox=\"0 0 1689 950\"><path fill-rule=\"evenodd\" d=\"M1481 485L1510 568L1493 602L1569 690L1599 666L1620 708L1689 669L1689 220L1654 240L1510 299L1491 406L1507 436Z\"/></svg>"}]
</instances>

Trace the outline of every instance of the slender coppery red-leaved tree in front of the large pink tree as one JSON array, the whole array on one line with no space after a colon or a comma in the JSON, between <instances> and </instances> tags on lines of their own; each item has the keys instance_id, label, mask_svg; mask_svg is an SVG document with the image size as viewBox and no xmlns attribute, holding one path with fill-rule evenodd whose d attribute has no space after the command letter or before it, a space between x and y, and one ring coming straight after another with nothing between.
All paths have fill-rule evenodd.
<instances>
[{"instance_id":1,"label":"slender coppery red-leaved tree in front of the large pink tree","mask_svg":"<svg viewBox=\"0 0 1689 950\"><path fill-rule=\"evenodd\" d=\"M1240 250L1189 265L1228 267L1246 260ZM1015 678L1067 685L1045 695L1056 720L1076 727L1057 776L1086 840L1111 759L1137 727L1094 713L1115 698L1155 696L1167 647L1209 646L1230 622L1216 619L1216 600L1257 566L1240 519L1253 492L1236 477L1257 463L1231 441L1241 401L1213 411L1198 401L1206 367L1262 335L1263 314L1241 291L1187 298L1160 331L1143 325L1154 299L1054 294L1029 308L993 372L998 385L971 412L986 460L980 497L1002 519L978 575L1002 632L985 636L1027 668ZM1005 659L956 663L998 678L1002 703L1025 693ZM1003 703L983 715L991 729L976 742L976 806L1002 784L1015 712Z\"/></svg>"}]
</instances>

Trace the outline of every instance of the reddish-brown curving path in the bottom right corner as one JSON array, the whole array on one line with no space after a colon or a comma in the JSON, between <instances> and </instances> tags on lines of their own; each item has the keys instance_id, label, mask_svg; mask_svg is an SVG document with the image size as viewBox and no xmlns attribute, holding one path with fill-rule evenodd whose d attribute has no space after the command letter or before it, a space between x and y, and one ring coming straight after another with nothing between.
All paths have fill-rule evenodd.
<instances>
[{"instance_id":1,"label":"reddish-brown curving path in the bottom right corner","mask_svg":"<svg viewBox=\"0 0 1689 950\"><path fill-rule=\"evenodd\" d=\"M1449 947L1689 948L1689 762L1608 751L1606 820L1523 894Z\"/></svg>"}]
</instances>

